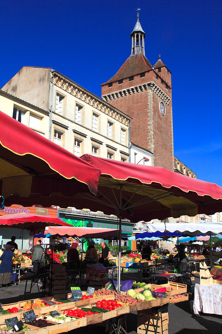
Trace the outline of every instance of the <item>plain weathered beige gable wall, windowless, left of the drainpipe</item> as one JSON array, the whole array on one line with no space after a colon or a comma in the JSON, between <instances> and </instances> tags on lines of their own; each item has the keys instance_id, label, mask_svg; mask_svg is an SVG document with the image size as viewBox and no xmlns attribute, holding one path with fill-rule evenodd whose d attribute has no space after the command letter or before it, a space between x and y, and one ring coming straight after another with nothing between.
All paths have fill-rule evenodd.
<instances>
[{"instance_id":1,"label":"plain weathered beige gable wall, windowless, left of the drainpipe","mask_svg":"<svg viewBox=\"0 0 222 334\"><path fill-rule=\"evenodd\" d=\"M51 107L50 77L50 68L23 66L2 91L48 111Z\"/></svg>"}]
</instances>

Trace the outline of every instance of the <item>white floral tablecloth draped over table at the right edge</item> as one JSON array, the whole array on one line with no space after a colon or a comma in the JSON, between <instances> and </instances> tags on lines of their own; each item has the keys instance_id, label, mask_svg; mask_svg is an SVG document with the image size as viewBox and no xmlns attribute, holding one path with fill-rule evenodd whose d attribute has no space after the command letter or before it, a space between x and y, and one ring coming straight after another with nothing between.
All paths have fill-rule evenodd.
<instances>
[{"instance_id":1,"label":"white floral tablecloth draped over table at the right edge","mask_svg":"<svg viewBox=\"0 0 222 334\"><path fill-rule=\"evenodd\" d=\"M222 286L195 284L193 310L196 315L200 311L222 315Z\"/></svg>"}]
</instances>

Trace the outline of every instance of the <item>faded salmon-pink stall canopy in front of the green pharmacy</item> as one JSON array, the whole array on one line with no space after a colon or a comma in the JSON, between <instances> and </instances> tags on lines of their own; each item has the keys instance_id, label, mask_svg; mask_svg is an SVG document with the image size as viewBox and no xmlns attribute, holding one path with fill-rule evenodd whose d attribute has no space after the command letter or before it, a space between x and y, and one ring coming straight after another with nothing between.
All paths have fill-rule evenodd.
<instances>
[{"instance_id":1,"label":"faded salmon-pink stall canopy in front of the green pharmacy","mask_svg":"<svg viewBox=\"0 0 222 334\"><path fill-rule=\"evenodd\" d=\"M59 235L65 237L78 237L78 238L102 238L112 239L118 237L119 230L111 228L96 228L96 227L74 227L74 226L49 226L45 229L45 234L51 233L52 235Z\"/></svg>"}]
</instances>

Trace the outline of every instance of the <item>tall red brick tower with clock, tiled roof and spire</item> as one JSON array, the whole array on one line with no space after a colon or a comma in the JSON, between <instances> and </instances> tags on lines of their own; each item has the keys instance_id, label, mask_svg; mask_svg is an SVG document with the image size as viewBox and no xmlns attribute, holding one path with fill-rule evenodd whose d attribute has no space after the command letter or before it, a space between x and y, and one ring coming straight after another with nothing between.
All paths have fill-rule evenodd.
<instances>
[{"instance_id":1,"label":"tall red brick tower with clock, tiled roof and spire","mask_svg":"<svg viewBox=\"0 0 222 334\"><path fill-rule=\"evenodd\" d=\"M131 55L101 85L102 98L133 118L131 142L154 153L152 164L173 170L171 72L160 55L153 67L145 57L145 32L138 14L130 36Z\"/></svg>"}]
</instances>

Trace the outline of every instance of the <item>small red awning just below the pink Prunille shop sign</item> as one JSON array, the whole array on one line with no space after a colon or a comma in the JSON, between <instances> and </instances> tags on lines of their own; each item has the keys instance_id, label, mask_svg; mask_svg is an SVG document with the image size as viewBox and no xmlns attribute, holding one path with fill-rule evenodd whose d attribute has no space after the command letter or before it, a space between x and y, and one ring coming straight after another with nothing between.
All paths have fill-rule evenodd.
<instances>
[{"instance_id":1,"label":"small red awning just below the pink Prunille shop sign","mask_svg":"<svg viewBox=\"0 0 222 334\"><path fill-rule=\"evenodd\" d=\"M10 214L0 217L0 227L16 227L29 231L41 230L46 226L70 226L63 220L50 216L41 216L30 213Z\"/></svg>"}]
</instances>

